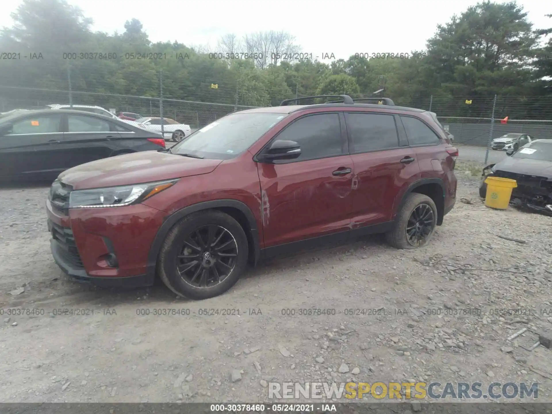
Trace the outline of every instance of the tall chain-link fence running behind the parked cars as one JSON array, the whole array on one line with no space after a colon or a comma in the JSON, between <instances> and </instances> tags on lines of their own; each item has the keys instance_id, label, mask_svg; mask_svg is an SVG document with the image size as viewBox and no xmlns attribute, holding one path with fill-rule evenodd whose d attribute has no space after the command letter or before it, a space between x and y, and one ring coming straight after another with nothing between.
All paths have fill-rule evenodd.
<instances>
[{"instance_id":1,"label":"tall chain-link fence running behind the parked cars","mask_svg":"<svg viewBox=\"0 0 552 414\"><path fill-rule=\"evenodd\" d=\"M158 91L151 96L116 94L105 91L99 86L95 87L94 76L97 77L97 74L93 71L68 70L65 75L60 73L57 81L53 83L56 86L48 89L12 86L22 83L15 82L16 79L13 79L13 76L6 79L0 76L0 112L72 103L73 105L97 105L113 110L115 113L132 112L142 116L160 116L162 111L162 115L166 118L188 124L192 128L201 128L237 110L255 108L240 105L240 102L247 102L247 97L251 97L257 91L254 88L247 90L240 88L238 81L209 83L211 81L207 78L199 80L190 78L178 79L177 82L177 79L163 78L161 74L161 72L153 73L147 88L145 84L141 84L139 76L135 75L132 78L134 81L129 79L129 82L136 84L137 91L140 87L142 90ZM66 79L63 80L63 77ZM14 82L8 82L9 80ZM175 83L183 86L175 89ZM195 97L195 99L163 96L163 89L169 86L172 91L180 91L182 97ZM92 89L94 92L82 92L82 89L88 91ZM270 98L273 104L280 102L278 97ZM454 135L457 144L487 146L492 138L508 132L529 134L537 139L552 138L552 96L443 97L430 95L425 98L391 98L397 105L426 109L436 113L440 123ZM507 123L501 123L506 116Z\"/></svg>"}]
</instances>

